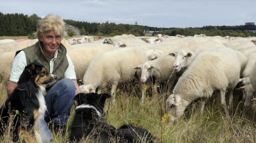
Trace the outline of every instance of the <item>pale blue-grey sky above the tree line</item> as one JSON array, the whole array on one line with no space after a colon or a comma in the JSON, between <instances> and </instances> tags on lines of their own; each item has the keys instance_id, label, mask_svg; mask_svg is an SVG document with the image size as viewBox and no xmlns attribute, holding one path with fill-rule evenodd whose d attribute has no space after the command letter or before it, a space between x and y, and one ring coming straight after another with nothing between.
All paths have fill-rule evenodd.
<instances>
[{"instance_id":1,"label":"pale blue-grey sky above the tree line","mask_svg":"<svg viewBox=\"0 0 256 143\"><path fill-rule=\"evenodd\" d=\"M244 25L256 22L255 6L256 0L0 0L4 14L159 28Z\"/></svg>"}]
</instances>

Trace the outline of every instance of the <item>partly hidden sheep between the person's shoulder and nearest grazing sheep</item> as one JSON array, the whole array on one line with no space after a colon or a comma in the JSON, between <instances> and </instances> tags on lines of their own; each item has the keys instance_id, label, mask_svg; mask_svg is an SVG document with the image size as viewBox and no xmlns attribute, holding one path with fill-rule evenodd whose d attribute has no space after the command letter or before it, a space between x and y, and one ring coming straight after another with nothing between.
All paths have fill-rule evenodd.
<instances>
[{"instance_id":1,"label":"partly hidden sheep between the person's shoulder and nearest grazing sheep","mask_svg":"<svg viewBox=\"0 0 256 143\"><path fill-rule=\"evenodd\" d=\"M77 80L83 78L83 74L88 68L91 59L101 52L112 50L113 46L102 43L83 43L72 45L67 49L67 54L75 66Z\"/></svg>"}]
</instances>

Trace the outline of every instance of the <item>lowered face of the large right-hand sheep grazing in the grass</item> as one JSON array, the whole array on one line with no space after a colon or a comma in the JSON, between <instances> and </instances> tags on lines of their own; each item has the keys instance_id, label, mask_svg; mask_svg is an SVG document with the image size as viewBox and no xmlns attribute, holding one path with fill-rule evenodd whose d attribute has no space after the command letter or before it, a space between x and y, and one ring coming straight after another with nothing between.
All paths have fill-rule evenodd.
<instances>
[{"instance_id":1,"label":"lowered face of the large right-hand sheep grazing in the grass","mask_svg":"<svg viewBox=\"0 0 256 143\"><path fill-rule=\"evenodd\" d=\"M166 113L170 114L170 121L179 119L184 113L186 106L182 105L180 95L170 95L166 100Z\"/></svg>"}]
</instances>

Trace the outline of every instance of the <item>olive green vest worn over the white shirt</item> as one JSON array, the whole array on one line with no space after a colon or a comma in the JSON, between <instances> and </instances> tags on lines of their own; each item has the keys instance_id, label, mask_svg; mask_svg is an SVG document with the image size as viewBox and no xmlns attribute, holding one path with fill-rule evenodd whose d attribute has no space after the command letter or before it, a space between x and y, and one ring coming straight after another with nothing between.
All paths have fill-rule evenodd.
<instances>
[{"instance_id":1,"label":"olive green vest worn over the white shirt","mask_svg":"<svg viewBox=\"0 0 256 143\"><path fill-rule=\"evenodd\" d=\"M30 47L19 50L16 52L15 55L17 55L20 51L24 51L26 55L27 65L32 63L34 60L37 60L39 63L45 66L48 72L50 72L50 62L48 62L45 55L41 51L42 46L40 43L41 42L36 42L34 45ZM64 78L64 73L69 66L69 62L66 54L67 54L66 48L64 47L63 44L60 44L60 47L58 48L58 56L57 56L57 59L54 61L54 67L52 71L52 74L58 77L55 83L57 83L59 80ZM46 87L50 88L55 83L49 84Z\"/></svg>"}]
</instances>

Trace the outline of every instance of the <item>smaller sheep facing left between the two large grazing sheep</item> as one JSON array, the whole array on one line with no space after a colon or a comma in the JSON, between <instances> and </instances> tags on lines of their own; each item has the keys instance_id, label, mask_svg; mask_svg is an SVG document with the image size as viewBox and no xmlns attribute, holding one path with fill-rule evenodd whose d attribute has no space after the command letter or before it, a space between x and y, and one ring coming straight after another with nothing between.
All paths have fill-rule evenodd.
<instances>
[{"instance_id":1,"label":"smaller sheep facing left between the two large grazing sheep","mask_svg":"<svg viewBox=\"0 0 256 143\"><path fill-rule=\"evenodd\" d=\"M149 60L140 64L139 66L134 67L134 69L141 70L141 79L142 83L145 83L148 79L154 79L153 82L153 95L157 95L157 86L159 83L165 83L168 81L169 77L173 72L173 65L175 58L169 56L168 54L160 55L155 60ZM150 78L151 77L151 78ZM173 87L174 81L169 81L170 86L168 86L167 91L169 92ZM144 95L142 93L142 99Z\"/></svg>"}]
</instances>

